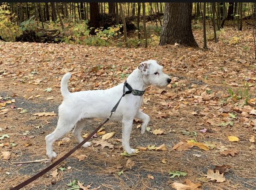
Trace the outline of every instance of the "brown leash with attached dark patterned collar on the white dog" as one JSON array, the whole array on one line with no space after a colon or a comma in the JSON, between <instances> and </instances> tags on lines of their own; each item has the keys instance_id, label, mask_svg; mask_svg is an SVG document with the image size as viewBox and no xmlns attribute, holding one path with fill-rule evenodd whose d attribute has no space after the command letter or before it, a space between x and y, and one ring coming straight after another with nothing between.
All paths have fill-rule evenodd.
<instances>
[{"instance_id":1,"label":"brown leash with attached dark patterned collar on the white dog","mask_svg":"<svg viewBox=\"0 0 256 190\"><path fill-rule=\"evenodd\" d=\"M125 91L125 87L127 87L127 91ZM124 88L123 88L123 95L121 96L121 98L119 99L119 101L115 104L115 106L113 107L113 109L110 111L110 116L107 117L106 120L104 120L87 138L85 138L82 142L80 142L78 145L76 145L72 150L70 150L67 154L65 154L64 156L62 156L60 159L56 160L53 164L49 165L47 168L45 168L44 170L40 171L39 173L37 173L36 175L32 176L31 178L27 179L25 182L22 182L21 184L18 184L17 186L11 188L10 190L19 190L20 188L24 187L25 185L33 182L34 180L36 180L37 178L39 178L40 176L42 176L43 174L45 174L46 172L50 171L51 169L53 169L56 165L58 165L59 163L61 163L64 159L66 159L68 156L70 156L71 154L73 154L78 148L80 148L85 142L87 142L91 137L93 137L94 134L96 134L96 132L101 129L101 127L107 123L108 120L110 120L110 117L113 115L113 113L115 113L115 110L117 109L121 99L126 95L126 94L132 94L132 95L138 95L138 96L142 96L144 94L144 91L140 91L140 90L135 90L132 89L132 87L127 83L127 81L124 82Z\"/></svg>"}]
</instances>

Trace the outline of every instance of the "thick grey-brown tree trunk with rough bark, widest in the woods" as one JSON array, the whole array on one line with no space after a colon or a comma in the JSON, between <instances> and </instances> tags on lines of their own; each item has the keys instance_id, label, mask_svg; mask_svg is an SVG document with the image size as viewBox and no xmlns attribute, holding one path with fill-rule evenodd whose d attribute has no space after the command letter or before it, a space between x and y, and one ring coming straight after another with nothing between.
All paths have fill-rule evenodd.
<instances>
[{"instance_id":1,"label":"thick grey-brown tree trunk with rough bark, widest in the woods","mask_svg":"<svg viewBox=\"0 0 256 190\"><path fill-rule=\"evenodd\" d=\"M163 14L163 27L160 44L175 44L198 47L192 28L192 3L166 3Z\"/></svg>"}]
</instances>

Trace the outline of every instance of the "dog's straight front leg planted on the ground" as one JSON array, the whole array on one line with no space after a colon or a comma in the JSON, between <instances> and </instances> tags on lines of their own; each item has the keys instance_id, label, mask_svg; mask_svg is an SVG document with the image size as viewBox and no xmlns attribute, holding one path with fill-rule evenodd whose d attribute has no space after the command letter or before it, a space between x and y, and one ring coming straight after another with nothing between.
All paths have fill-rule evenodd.
<instances>
[{"instance_id":1,"label":"dog's straight front leg planted on the ground","mask_svg":"<svg viewBox=\"0 0 256 190\"><path fill-rule=\"evenodd\" d=\"M122 145L127 154L134 154L136 151L130 147L130 134L132 131L132 120L122 120L123 134L122 134Z\"/></svg>"}]
</instances>

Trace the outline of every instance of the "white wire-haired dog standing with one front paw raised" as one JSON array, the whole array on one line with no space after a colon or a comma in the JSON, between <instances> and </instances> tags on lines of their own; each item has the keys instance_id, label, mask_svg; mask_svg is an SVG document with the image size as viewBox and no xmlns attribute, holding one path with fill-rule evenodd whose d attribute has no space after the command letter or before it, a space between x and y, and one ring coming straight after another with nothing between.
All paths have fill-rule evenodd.
<instances>
[{"instance_id":1,"label":"white wire-haired dog standing with one front paw raised","mask_svg":"<svg viewBox=\"0 0 256 190\"><path fill-rule=\"evenodd\" d=\"M164 88L171 82L171 79L163 73L162 69L163 67L155 60L144 61L128 76L127 83L132 89L139 91L144 91L149 85ZM123 95L124 83L105 90L87 90L70 93L68 91L70 76L70 73L66 73L61 81L61 93L64 100L59 106L57 127L51 134L45 137L46 154L49 158L57 156L52 148L55 140L68 133L75 126L73 134L78 143L82 142L81 132L86 124L86 120L107 118L110 115L111 109ZM122 121L122 145L128 154L135 153L135 150L130 148L129 145L133 119L136 117L143 121L141 134L145 132L146 126L149 123L149 116L139 110L142 102L142 96L127 94L121 99L116 112L111 117L113 120ZM86 142L83 147L90 145L90 142Z\"/></svg>"}]
</instances>

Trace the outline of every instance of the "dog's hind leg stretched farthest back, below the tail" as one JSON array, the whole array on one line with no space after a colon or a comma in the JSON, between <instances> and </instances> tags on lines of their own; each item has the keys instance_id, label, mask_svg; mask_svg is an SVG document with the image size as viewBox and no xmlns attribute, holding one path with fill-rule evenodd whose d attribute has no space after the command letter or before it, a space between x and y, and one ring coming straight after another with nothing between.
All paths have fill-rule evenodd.
<instances>
[{"instance_id":1,"label":"dog's hind leg stretched farthest back, below the tail","mask_svg":"<svg viewBox=\"0 0 256 190\"><path fill-rule=\"evenodd\" d=\"M73 128L73 126L75 126L75 124L75 122L70 122L70 120L65 120L63 117L59 117L56 129L45 137L46 154L49 158L54 158L57 156L57 154L53 152L53 142L68 133Z\"/></svg>"}]
</instances>

